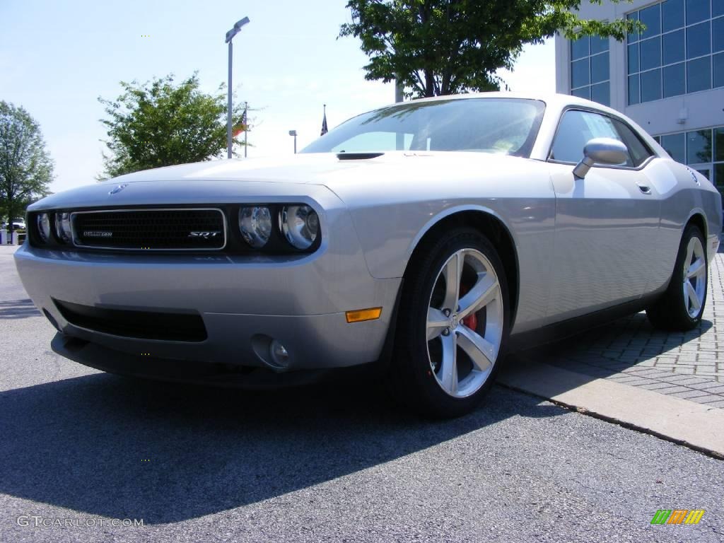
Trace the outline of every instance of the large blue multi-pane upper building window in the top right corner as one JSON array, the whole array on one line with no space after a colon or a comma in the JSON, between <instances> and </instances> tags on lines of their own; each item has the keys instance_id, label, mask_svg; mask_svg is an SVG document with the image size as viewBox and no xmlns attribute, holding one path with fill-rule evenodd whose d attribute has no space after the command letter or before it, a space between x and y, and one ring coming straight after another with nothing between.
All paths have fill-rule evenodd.
<instances>
[{"instance_id":1,"label":"large blue multi-pane upper building window in the top right corner","mask_svg":"<svg viewBox=\"0 0 724 543\"><path fill-rule=\"evenodd\" d=\"M724 0L666 0L626 15L628 105L724 87Z\"/></svg>"}]
</instances>

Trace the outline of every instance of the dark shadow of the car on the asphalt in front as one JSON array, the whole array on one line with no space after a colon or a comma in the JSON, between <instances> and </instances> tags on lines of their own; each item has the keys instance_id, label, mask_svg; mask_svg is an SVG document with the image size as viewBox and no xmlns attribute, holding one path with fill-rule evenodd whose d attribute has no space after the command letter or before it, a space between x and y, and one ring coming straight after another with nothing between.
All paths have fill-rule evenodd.
<instances>
[{"instance_id":1,"label":"dark shadow of the car on the asphalt in front","mask_svg":"<svg viewBox=\"0 0 724 543\"><path fill-rule=\"evenodd\" d=\"M502 387L468 416L428 421L369 379L248 392L93 374L0 392L0 492L171 523L322 484L505 418L565 413Z\"/></svg>"}]
</instances>

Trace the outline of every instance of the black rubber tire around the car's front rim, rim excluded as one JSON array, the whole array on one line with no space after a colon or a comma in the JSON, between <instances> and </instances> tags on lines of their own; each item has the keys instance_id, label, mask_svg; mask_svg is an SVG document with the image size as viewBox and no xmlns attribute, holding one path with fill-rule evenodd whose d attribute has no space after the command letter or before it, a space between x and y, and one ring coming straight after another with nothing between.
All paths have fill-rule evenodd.
<instances>
[{"instance_id":1,"label":"black rubber tire around the car's front rim, rim excluded","mask_svg":"<svg viewBox=\"0 0 724 543\"><path fill-rule=\"evenodd\" d=\"M452 397L442 389L432 371L426 323L437 276L447 260L463 249L479 251L492 264L500 285L502 334L497 358L481 388L467 397ZM478 311L476 316L481 311ZM459 228L429 240L416 251L405 273L403 293L397 311L395 350L388 374L388 384L395 398L402 400L418 413L432 418L452 418L472 411L492 386L500 369L508 340L509 319L505 269L497 251L486 237L477 230Z\"/></svg>"}]
</instances>

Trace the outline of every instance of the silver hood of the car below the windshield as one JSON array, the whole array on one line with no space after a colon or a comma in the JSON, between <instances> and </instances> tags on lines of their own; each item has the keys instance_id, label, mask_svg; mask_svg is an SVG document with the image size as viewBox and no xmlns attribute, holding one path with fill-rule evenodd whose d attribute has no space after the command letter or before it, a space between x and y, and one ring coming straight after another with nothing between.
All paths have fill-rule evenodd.
<instances>
[{"instance_id":1,"label":"silver hood of the car below the windshield","mask_svg":"<svg viewBox=\"0 0 724 543\"><path fill-rule=\"evenodd\" d=\"M310 195L323 185L332 192L378 191L420 183L481 177L519 170L528 159L463 152L384 153L371 159L338 159L334 153L264 159L198 162L135 172L43 198L31 211L64 207L128 206L148 203L232 203L240 198ZM122 186L124 185L124 186ZM121 187L119 190L114 190ZM113 192L113 193L111 193ZM342 198L344 199L344 198Z\"/></svg>"}]
</instances>

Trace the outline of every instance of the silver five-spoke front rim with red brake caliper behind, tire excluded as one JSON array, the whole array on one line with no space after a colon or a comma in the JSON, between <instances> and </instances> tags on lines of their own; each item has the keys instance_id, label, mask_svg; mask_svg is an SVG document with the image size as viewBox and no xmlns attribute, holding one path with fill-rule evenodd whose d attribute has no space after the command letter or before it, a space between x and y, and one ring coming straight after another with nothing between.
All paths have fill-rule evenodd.
<instances>
[{"instance_id":1,"label":"silver five-spoke front rim with red brake caliper behind, tire excluded","mask_svg":"<svg viewBox=\"0 0 724 543\"><path fill-rule=\"evenodd\" d=\"M490 261L476 249L450 256L428 306L431 371L448 395L468 397L485 384L500 351L502 296Z\"/></svg>"}]
</instances>

